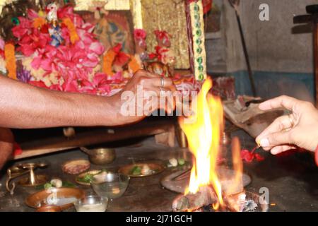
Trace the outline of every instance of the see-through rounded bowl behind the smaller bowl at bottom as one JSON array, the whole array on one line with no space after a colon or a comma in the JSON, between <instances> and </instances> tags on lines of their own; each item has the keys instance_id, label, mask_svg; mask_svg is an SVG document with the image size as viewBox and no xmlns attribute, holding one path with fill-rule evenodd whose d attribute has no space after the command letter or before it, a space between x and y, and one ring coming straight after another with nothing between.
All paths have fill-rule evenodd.
<instances>
[{"instance_id":1,"label":"see-through rounded bowl behind the smaller bowl at bottom","mask_svg":"<svg viewBox=\"0 0 318 226\"><path fill-rule=\"evenodd\" d=\"M124 174L100 174L93 177L91 185L98 196L114 199L124 195L129 179Z\"/></svg>"}]
</instances>

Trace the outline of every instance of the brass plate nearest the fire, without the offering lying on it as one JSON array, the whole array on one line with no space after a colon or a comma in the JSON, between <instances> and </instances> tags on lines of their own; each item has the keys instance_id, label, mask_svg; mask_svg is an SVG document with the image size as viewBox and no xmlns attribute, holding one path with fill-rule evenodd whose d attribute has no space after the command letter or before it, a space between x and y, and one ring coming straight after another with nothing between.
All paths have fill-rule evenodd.
<instances>
[{"instance_id":1,"label":"brass plate nearest the fire, without the offering lying on it","mask_svg":"<svg viewBox=\"0 0 318 226\"><path fill-rule=\"evenodd\" d=\"M134 169L134 167L139 166L141 167L141 169L143 168L143 166L148 165L148 167L153 170L154 172L148 175L143 175L143 174L139 174L139 175L135 175L135 174L131 174L131 170ZM156 174L160 174L161 172L163 172L165 170L165 167L163 165L163 163L161 162L137 162L135 164L131 164L131 165L125 165L124 167L120 167L118 172L120 174L125 174L129 177L149 177L149 176L153 176Z\"/></svg>"}]
</instances>

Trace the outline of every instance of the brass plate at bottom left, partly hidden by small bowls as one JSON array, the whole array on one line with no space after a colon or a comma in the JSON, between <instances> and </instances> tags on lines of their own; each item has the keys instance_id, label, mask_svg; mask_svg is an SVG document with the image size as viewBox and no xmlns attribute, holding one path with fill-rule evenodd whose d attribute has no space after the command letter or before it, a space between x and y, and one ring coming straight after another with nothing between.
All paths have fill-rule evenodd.
<instances>
[{"instance_id":1,"label":"brass plate at bottom left, partly hidden by small bowls","mask_svg":"<svg viewBox=\"0 0 318 226\"><path fill-rule=\"evenodd\" d=\"M57 198L83 198L86 196L85 191L81 189L71 189L71 188L61 188L57 190ZM39 191L35 194L28 196L25 199L25 204L30 206L30 208L40 208L41 206L47 206L47 198L52 196L47 190ZM68 203L62 206L59 206L61 210L66 210L73 206L73 203Z\"/></svg>"}]
</instances>

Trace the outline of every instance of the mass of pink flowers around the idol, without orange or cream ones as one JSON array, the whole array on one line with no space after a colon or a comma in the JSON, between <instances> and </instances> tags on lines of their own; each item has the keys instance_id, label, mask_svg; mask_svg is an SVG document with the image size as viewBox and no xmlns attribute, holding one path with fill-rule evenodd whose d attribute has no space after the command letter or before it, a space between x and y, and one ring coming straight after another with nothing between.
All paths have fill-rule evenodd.
<instances>
[{"instance_id":1,"label":"mass of pink flowers around the idol, without orange or cream ones","mask_svg":"<svg viewBox=\"0 0 318 226\"><path fill-rule=\"evenodd\" d=\"M33 20L38 17L35 11L28 11L28 18L20 17L20 24L12 31L18 38L18 51L25 57L33 57L33 69L45 71L43 76L56 73L58 78L63 79L62 85L51 85L49 88L69 92L109 93L110 83L113 81L107 81L107 75L95 73L93 80L90 79L100 63L100 56L105 52L105 47L93 34L93 25L84 23L81 16L73 13L73 8L60 8L59 20L70 18L79 40L72 44L68 28L61 25L61 36L65 42L59 47L53 47L49 44L51 37L47 32L47 25L43 25L40 30L33 28ZM43 86L42 83L33 85Z\"/></svg>"}]
</instances>

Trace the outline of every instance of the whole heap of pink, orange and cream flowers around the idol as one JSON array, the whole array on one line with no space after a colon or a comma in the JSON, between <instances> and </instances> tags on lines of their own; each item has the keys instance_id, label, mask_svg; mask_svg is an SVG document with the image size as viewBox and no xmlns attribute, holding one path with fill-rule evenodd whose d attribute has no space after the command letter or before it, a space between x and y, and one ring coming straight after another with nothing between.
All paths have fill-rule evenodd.
<instances>
[{"instance_id":1,"label":"whole heap of pink, orange and cream flowers around the idol","mask_svg":"<svg viewBox=\"0 0 318 226\"><path fill-rule=\"evenodd\" d=\"M17 50L25 56L22 62L24 68L18 71L18 79L52 90L98 95L110 93L110 84L121 79L113 80L112 74L99 72L100 56L105 47L96 40L94 26L73 13L71 6L59 8L57 12L54 6L50 7L47 10L49 18L61 21L60 35L64 42L50 44L52 36L49 29L52 24L35 11L28 11L28 18L18 18L20 23L13 28L13 35L18 40ZM130 56L120 49L114 49L114 63L128 63ZM107 61L107 64L111 63ZM116 78L119 77L116 75Z\"/></svg>"}]
</instances>

